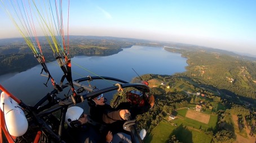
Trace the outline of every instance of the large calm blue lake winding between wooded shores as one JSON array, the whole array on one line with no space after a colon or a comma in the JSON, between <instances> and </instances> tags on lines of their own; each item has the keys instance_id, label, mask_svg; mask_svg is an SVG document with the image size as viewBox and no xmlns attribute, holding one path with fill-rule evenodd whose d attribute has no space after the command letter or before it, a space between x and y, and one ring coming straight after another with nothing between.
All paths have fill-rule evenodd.
<instances>
[{"instance_id":1,"label":"large calm blue lake winding between wooded shores","mask_svg":"<svg viewBox=\"0 0 256 143\"><path fill-rule=\"evenodd\" d=\"M147 73L173 75L176 72L186 71L185 67L188 66L186 60L181 57L181 54L168 52L162 47L133 46L124 48L121 52L111 56L73 57L71 59L72 72L74 72L72 77L75 80L89 75L99 75L131 81L133 77L137 76L132 68L139 75ZM47 67L59 84L63 72L57 66L56 61L47 63ZM47 81L47 77L40 75L41 70L41 64L38 64L24 72L7 73L0 76L0 84L24 103L34 105L53 89L50 81L47 84L48 87L43 85ZM111 85L111 83L105 82L105 86Z\"/></svg>"}]
</instances>

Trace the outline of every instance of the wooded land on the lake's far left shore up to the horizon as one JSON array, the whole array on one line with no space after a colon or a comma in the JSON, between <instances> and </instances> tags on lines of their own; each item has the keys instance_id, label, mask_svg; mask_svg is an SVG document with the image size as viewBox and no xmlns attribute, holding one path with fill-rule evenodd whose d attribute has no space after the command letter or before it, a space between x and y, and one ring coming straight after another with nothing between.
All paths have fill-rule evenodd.
<instances>
[{"instance_id":1,"label":"wooded land on the lake's far left shore up to the horizon","mask_svg":"<svg viewBox=\"0 0 256 143\"><path fill-rule=\"evenodd\" d=\"M66 37L67 40L67 37ZM54 61L54 53L47 43L45 37L39 37L41 41L41 49L46 61ZM67 41L65 41L67 43ZM147 40L129 39L129 38L113 38L98 36L69 36L69 54L73 56L109 56L116 54L122 48L130 48L133 45L162 46L162 44L152 44ZM54 47L55 48L55 47ZM68 47L66 47L68 48ZM61 53L62 54L62 53ZM32 50L25 43L24 39L17 38L0 40L0 56L5 61L1 62L0 74L8 72L21 72L38 64L36 58L33 57ZM21 65L20 61L24 61Z\"/></svg>"}]
</instances>

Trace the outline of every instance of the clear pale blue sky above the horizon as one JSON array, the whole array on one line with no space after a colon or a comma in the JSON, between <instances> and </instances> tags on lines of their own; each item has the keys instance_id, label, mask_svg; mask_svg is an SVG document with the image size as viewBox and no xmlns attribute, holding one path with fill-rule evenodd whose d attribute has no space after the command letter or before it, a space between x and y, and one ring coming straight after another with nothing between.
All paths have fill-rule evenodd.
<instances>
[{"instance_id":1,"label":"clear pale blue sky above the horizon","mask_svg":"<svg viewBox=\"0 0 256 143\"><path fill-rule=\"evenodd\" d=\"M70 1L69 35L171 41L256 55L255 6L255 0ZM1 8L0 18L0 39L21 37Z\"/></svg>"}]
</instances>

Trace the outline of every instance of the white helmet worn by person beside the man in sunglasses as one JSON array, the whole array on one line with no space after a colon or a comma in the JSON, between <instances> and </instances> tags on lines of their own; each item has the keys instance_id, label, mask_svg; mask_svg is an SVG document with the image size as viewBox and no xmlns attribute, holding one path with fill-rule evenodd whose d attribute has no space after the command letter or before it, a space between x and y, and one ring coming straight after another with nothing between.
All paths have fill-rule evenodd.
<instances>
[{"instance_id":1,"label":"white helmet worn by person beside the man in sunglasses","mask_svg":"<svg viewBox=\"0 0 256 143\"><path fill-rule=\"evenodd\" d=\"M76 121L80 118L80 116L83 114L83 109L81 107L70 107L67 110L65 122L70 126L71 121Z\"/></svg>"}]
</instances>

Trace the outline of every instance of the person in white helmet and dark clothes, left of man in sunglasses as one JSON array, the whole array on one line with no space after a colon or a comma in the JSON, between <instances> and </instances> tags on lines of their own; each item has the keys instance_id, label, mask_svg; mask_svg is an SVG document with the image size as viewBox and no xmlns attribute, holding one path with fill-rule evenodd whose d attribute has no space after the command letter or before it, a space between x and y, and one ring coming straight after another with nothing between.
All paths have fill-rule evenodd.
<instances>
[{"instance_id":1,"label":"person in white helmet and dark clothes, left of man in sunglasses","mask_svg":"<svg viewBox=\"0 0 256 143\"><path fill-rule=\"evenodd\" d=\"M72 135L72 142L111 142L113 135L111 131L103 133L100 124L91 121L90 117L83 114L80 107L70 107L67 110L65 122L68 124L68 131Z\"/></svg>"}]
</instances>

